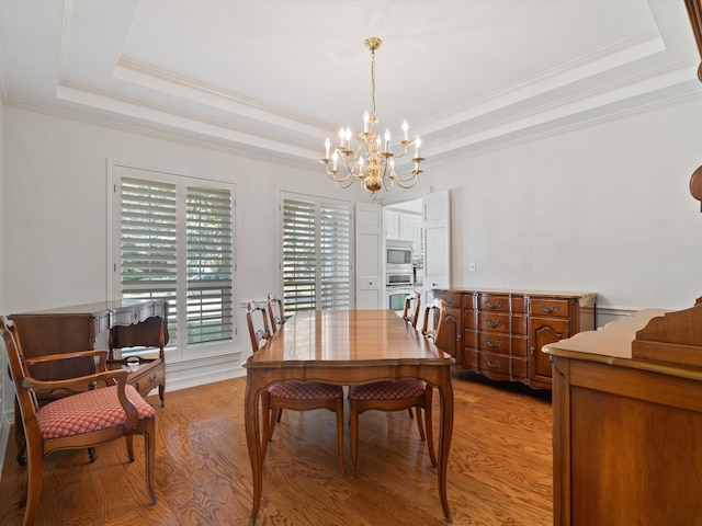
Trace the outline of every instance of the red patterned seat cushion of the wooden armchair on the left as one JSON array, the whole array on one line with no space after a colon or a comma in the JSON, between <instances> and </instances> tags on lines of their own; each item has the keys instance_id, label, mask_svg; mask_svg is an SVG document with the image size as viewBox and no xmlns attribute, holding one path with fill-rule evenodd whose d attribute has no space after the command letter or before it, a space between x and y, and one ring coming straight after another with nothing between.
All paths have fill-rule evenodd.
<instances>
[{"instance_id":1,"label":"red patterned seat cushion of the wooden armchair on the left","mask_svg":"<svg viewBox=\"0 0 702 526\"><path fill-rule=\"evenodd\" d=\"M155 411L132 386L126 386L127 399L139 413L139 420L154 416ZM44 438L81 435L123 425L127 418L117 399L117 386L81 392L44 405L36 420Z\"/></svg>"}]
</instances>

